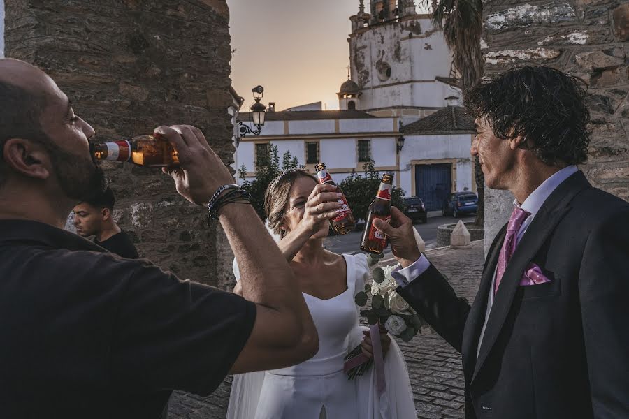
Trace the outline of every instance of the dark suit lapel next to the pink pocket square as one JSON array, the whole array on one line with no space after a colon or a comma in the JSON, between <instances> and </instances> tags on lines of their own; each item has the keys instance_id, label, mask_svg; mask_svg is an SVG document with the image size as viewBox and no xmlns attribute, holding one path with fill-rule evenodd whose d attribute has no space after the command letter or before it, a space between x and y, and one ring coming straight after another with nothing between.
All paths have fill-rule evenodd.
<instances>
[{"instance_id":1,"label":"dark suit lapel next to the pink pocket square","mask_svg":"<svg viewBox=\"0 0 629 419\"><path fill-rule=\"evenodd\" d=\"M540 208L540 211L535 214L533 222L528 226L511 260L507 263L503 279L500 281L498 293L494 299L493 307L489 314L489 320L487 321L487 327L485 328L485 334L472 381L478 375L479 369L482 368L491 348L496 344L496 339L498 339L500 330L503 328L505 320L507 319L526 265L535 257L535 253L542 247L542 244L544 244L549 235L551 235L566 212L570 210L568 204L572 198L574 198L579 191L588 187L591 187L591 185L588 183L583 173L580 171L574 173L574 175L568 177L565 182L560 184L553 193L551 193ZM500 243L502 243L502 240ZM500 249L500 247L498 247L498 249ZM499 253L500 251L498 250L498 254ZM496 267L496 263L493 263L493 267ZM493 269L491 272L483 272L483 274L484 281L486 281L486 275L489 275L489 282L491 282ZM489 289L486 290L486 293L489 294ZM486 295L484 297L486 297Z\"/></svg>"}]
</instances>

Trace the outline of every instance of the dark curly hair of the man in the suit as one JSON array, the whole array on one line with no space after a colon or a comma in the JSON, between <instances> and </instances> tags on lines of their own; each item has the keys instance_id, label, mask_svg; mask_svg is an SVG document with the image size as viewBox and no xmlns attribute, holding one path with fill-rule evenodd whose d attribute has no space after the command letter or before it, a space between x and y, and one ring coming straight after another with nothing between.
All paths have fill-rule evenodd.
<instances>
[{"instance_id":1,"label":"dark curly hair of the man in the suit","mask_svg":"<svg viewBox=\"0 0 629 419\"><path fill-rule=\"evenodd\" d=\"M585 163L590 112L583 80L555 68L512 68L484 78L465 92L465 108L486 118L498 138L521 136L544 164Z\"/></svg>"}]
</instances>

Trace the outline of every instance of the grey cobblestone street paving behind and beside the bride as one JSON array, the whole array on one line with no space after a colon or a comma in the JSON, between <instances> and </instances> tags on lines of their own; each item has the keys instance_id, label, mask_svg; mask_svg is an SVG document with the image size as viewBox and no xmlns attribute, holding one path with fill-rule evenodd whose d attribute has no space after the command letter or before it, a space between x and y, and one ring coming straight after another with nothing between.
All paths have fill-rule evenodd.
<instances>
[{"instance_id":1,"label":"grey cobblestone street paving behind and beside the bride","mask_svg":"<svg viewBox=\"0 0 629 419\"><path fill-rule=\"evenodd\" d=\"M445 274L456 291L472 302L483 268L483 242L469 249L433 249L426 256ZM424 328L408 344L398 341L405 355L417 416L422 419L464 418L465 396L461 356L439 335ZM208 397L175 392L171 419L223 419L226 416L231 376ZM336 418L332 418L336 419Z\"/></svg>"}]
</instances>

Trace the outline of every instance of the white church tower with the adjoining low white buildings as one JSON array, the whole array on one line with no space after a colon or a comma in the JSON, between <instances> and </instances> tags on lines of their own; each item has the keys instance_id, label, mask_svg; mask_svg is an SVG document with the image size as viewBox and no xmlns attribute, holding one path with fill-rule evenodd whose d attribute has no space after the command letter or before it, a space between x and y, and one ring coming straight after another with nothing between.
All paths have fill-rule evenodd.
<instances>
[{"instance_id":1,"label":"white church tower with the adjoining low white buildings","mask_svg":"<svg viewBox=\"0 0 629 419\"><path fill-rule=\"evenodd\" d=\"M373 160L428 210L439 210L450 192L475 191L473 121L458 105L451 54L431 16L417 14L412 0L373 0L366 13L361 0L350 20L350 78L338 91L340 110L320 103L270 108L259 136L238 139L235 167L245 166L253 179L275 145L280 157L289 151L308 170L326 163L335 182ZM247 123L250 115L240 119Z\"/></svg>"}]
</instances>

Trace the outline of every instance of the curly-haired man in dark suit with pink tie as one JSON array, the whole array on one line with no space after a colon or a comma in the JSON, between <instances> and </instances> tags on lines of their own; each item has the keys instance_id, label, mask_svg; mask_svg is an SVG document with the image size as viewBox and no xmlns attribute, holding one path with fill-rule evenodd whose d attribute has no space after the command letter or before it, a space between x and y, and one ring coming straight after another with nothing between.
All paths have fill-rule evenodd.
<instances>
[{"instance_id":1,"label":"curly-haired man in dark suit with pink tie","mask_svg":"<svg viewBox=\"0 0 629 419\"><path fill-rule=\"evenodd\" d=\"M398 293L461 351L466 418L629 418L629 204L593 188L579 80L519 68L484 80L465 105L487 186L516 200L468 304L393 209Z\"/></svg>"}]
</instances>

